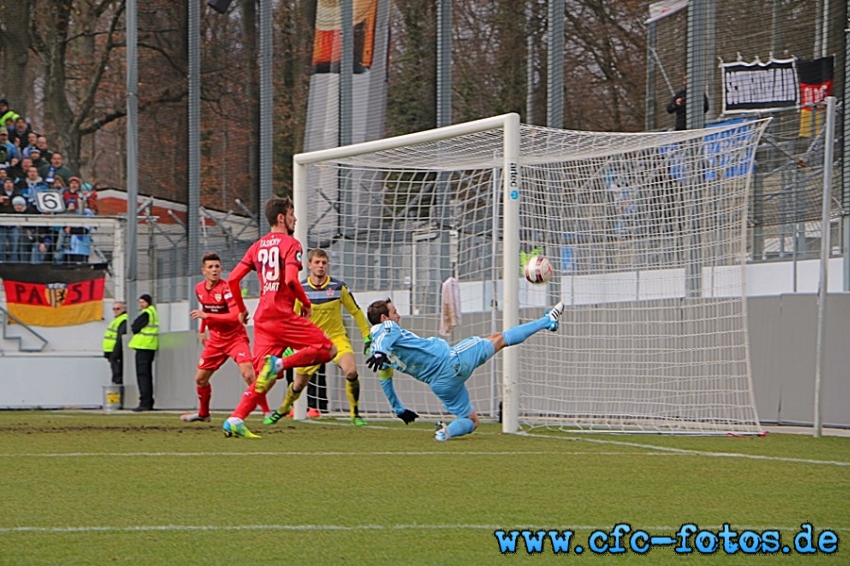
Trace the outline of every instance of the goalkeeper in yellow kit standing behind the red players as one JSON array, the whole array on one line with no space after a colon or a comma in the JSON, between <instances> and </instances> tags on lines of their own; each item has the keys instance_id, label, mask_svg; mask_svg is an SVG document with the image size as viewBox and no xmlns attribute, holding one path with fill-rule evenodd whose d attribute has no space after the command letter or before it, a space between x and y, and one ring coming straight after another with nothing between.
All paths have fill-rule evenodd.
<instances>
[{"instance_id":1,"label":"goalkeeper in yellow kit standing behind the red players","mask_svg":"<svg viewBox=\"0 0 850 566\"><path fill-rule=\"evenodd\" d=\"M334 361L345 375L345 394L348 397L348 405L351 411L351 424L366 426L368 423L360 417L358 411L360 379L357 375L357 360L354 357L354 349L351 347L345 325L342 322L342 307L345 307L360 328L365 343L364 351L368 351L369 342L372 340L369 336L369 323L345 282L328 275L328 265L328 254L325 250L321 248L310 250L307 257L307 269L310 271L310 275L301 281L301 286L304 288L307 298L313 303L310 321L318 326L336 346L338 353ZM301 305L296 302L295 312L301 312L300 309ZM319 367L321 366L300 367L296 368L295 371L299 375L306 376L304 383L307 383ZM263 424L272 425L287 416L295 399L297 397L288 403L284 399L280 408L266 417Z\"/></svg>"}]
</instances>

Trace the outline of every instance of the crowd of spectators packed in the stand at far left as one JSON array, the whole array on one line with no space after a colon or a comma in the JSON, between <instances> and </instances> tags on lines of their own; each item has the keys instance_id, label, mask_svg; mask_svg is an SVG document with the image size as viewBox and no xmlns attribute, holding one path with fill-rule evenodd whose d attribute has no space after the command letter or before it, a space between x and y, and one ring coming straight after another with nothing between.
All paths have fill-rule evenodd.
<instances>
[{"instance_id":1,"label":"crowd of spectators packed in the stand at far left","mask_svg":"<svg viewBox=\"0 0 850 566\"><path fill-rule=\"evenodd\" d=\"M0 214L94 216L97 190L0 98ZM0 262L88 263L91 228L0 225Z\"/></svg>"}]
</instances>

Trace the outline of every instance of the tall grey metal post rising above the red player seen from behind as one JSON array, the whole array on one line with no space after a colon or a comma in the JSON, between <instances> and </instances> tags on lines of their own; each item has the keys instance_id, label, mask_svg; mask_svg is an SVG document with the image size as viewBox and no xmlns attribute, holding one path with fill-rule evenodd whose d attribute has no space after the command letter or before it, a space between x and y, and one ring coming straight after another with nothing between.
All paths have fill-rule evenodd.
<instances>
[{"instance_id":1,"label":"tall grey metal post rising above the red player seen from behind","mask_svg":"<svg viewBox=\"0 0 850 566\"><path fill-rule=\"evenodd\" d=\"M263 206L272 196L274 182L274 90L272 88L272 0L260 0L260 200L257 203L260 234L263 233Z\"/></svg>"}]
</instances>

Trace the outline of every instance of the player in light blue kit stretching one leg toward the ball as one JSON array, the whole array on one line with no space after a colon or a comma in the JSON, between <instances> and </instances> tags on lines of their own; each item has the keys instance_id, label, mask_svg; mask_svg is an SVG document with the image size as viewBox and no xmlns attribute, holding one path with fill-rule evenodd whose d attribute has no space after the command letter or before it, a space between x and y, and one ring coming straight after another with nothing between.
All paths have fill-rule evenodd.
<instances>
[{"instance_id":1,"label":"player in light blue kit stretching one leg toward the ball","mask_svg":"<svg viewBox=\"0 0 850 566\"><path fill-rule=\"evenodd\" d=\"M367 309L372 326L372 355L366 365L377 371L381 389L387 396L393 412L404 424L419 416L401 404L393 387L393 370L397 369L413 379L427 383L446 410L457 418L448 426L437 424L434 439L440 442L469 434L478 428L478 414L469 401L466 380L472 372L493 357L505 346L525 342L544 328L556 332L558 319L564 312L562 303L556 304L537 320L514 326L482 338L475 336L449 346L442 338L420 338L398 325L401 316L389 299L375 301Z\"/></svg>"}]
</instances>

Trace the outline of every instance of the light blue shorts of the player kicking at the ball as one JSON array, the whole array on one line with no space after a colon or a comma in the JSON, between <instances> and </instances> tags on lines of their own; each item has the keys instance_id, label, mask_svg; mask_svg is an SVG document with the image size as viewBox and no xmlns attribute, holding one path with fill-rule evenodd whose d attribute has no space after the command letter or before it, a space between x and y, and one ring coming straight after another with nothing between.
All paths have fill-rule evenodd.
<instances>
[{"instance_id":1,"label":"light blue shorts of the player kicking at the ball","mask_svg":"<svg viewBox=\"0 0 850 566\"><path fill-rule=\"evenodd\" d=\"M431 381L431 391L442 401L446 410L458 417L468 417L474 411L466 390L466 380L475 368L496 353L493 343L474 336L451 347L443 371Z\"/></svg>"}]
</instances>

